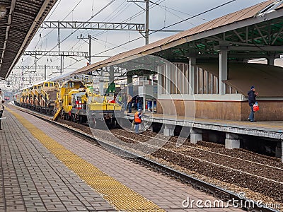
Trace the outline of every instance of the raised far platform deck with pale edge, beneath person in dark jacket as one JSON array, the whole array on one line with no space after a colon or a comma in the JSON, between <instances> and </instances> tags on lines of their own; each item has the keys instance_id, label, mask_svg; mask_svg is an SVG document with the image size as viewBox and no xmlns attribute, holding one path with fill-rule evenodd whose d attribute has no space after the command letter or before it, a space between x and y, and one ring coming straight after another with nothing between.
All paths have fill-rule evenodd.
<instances>
[{"instance_id":1,"label":"raised far platform deck with pale edge, beneath person in dark jacket","mask_svg":"<svg viewBox=\"0 0 283 212\"><path fill-rule=\"evenodd\" d=\"M125 113L125 118L134 119L134 112L135 111L133 110L132 113ZM151 113L147 111L143 119L146 122L156 122L172 126L187 126L196 129L224 131L232 134L260 136L279 140L283 139L283 121L240 122L222 119L183 117L178 115Z\"/></svg>"}]
</instances>

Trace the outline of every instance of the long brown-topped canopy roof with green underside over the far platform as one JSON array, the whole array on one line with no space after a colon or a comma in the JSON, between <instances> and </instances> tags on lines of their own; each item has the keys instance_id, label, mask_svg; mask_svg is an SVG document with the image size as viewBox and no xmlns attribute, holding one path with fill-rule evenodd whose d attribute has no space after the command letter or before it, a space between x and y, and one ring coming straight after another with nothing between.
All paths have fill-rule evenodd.
<instances>
[{"instance_id":1,"label":"long brown-topped canopy roof with green underside over the far platform","mask_svg":"<svg viewBox=\"0 0 283 212\"><path fill-rule=\"evenodd\" d=\"M216 18L182 33L85 66L72 75L119 66L138 55L154 55L171 62L215 61L219 51L229 51L229 60L277 58L283 54L283 1L264 1Z\"/></svg>"}]
</instances>

